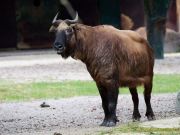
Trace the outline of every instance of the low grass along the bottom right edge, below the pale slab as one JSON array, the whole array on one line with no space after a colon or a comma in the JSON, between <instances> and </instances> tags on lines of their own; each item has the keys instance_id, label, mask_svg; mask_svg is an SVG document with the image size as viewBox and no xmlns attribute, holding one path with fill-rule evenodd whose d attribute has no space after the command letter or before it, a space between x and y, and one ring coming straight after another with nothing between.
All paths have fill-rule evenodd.
<instances>
[{"instance_id":1,"label":"low grass along the bottom right edge, below the pale slab","mask_svg":"<svg viewBox=\"0 0 180 135\"><path fill-rule=\"evenodd\" d=\"M115 127L109 131L103 131L99 135L117 135L120 133L127 134L145 134L145 135L179 135L180 128L144 128L140 127L138 123L129 123Z\"/></svg>"}]
</instances>

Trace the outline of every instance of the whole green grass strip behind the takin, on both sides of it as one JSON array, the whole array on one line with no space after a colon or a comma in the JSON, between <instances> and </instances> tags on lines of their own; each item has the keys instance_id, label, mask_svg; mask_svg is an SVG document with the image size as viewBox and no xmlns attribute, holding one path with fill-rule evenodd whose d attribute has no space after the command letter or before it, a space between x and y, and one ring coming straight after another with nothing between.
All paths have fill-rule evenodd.
<instances>
[{"instance_id":1,"label":"whole green grass strip behind the takin, on both sides of it","mask_svg":"<svg viewBox=\"0 0 180 135\"><path fill-rule=\"evenodd\" d=\"M180 91L180 75L155 75L153 93ZM143 92L143 88L138 88ZM120 89L128 94L127 88ZM98 95L94 81L31 82L14 83L0 80L0 101L22 101L34 99L58 99L74 96Z\"/></svg>"}]
</instances>

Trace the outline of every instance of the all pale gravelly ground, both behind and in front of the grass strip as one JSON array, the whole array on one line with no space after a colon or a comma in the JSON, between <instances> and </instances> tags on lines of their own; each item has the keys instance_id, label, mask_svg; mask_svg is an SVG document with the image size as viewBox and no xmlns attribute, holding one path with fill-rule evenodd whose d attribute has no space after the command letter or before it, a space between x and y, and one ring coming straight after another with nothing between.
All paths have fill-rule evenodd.
<instances>
[{"instance_id":1,"label":"all pale gravelly ground, both behind and in front of the grass strip","mask_svg":"<svg viewBox=\"0 0 180 135\"><path fill-rule=\"evenodd\" d=\"M180 74L180 54L167 54L156 60L155 73ZM0 53L0 80L14 82L91 80L80 61L63 60L52 50L15 51ZM175 113L176 93L152 96L152 106L157 119L178 116ZM140 95L141 121L147 121L145 103ZM44 102L0 103L0 135L63 135L95 134L109 130L99 127L103 110L99 96L46 100ZM130 95L120 95L117 106L118 125L131 121Z\"/></svg>"}]
</instances>

